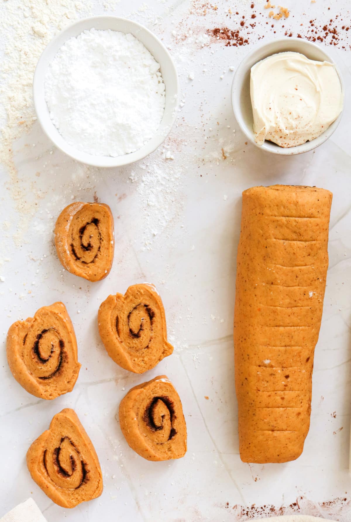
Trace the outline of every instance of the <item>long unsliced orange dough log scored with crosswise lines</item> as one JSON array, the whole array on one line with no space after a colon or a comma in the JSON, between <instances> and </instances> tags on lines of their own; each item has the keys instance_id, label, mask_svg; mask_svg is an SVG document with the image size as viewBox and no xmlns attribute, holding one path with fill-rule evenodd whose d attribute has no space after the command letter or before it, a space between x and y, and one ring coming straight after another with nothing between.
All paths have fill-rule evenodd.
<instances>
[{"instance_id":1,"label":"long unsliced orange dough log scored with crosswise lines","mask_svg":"<svg viewBox=\"0 0 351 522\"><path fill-rule=\"evenodd\" d=\"M234 317L240 457L299 457L310 424L332 194L289 185L243 193Z\"/></svg>"}]
</instances>

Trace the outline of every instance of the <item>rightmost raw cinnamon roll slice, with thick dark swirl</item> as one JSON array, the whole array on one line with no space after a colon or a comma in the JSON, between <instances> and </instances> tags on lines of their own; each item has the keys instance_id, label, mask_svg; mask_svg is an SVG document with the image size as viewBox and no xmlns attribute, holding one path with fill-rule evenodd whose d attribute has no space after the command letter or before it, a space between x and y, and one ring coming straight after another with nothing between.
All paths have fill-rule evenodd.
<instances>
[{"instance_id":1,"label":"rightmost raw cinnamon roll slice, with thick dark swirl","mask_svg":"<svg viewBox=\"0 0 351 522\"><path fill-rule=\"evenodd\" d=\"M131 388L119 406L129 446L147 460L184 457L187 428L179 395L166 375Z\"/></svg>"}]
</instances>

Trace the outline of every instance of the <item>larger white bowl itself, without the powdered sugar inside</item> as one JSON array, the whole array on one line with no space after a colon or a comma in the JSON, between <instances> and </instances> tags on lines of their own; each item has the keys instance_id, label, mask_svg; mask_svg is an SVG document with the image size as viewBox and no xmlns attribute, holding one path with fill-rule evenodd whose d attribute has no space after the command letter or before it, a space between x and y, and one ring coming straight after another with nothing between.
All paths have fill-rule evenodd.
<instances>
[{"instance_id":1,"label":"larger white bowl itself, without the powdered sugar inside","mask_svg":"<svg viewBox=\"0 0 351 522\"><path fill-rule=\"evenodd\" d=\"M131 33L144 44L154 56L155 60L161 65L160 70L166 90L165 110L160 127L153 138L141 147L141 149L123 156L94 156L69 145L51 121L49 109L45 101L44 80L47 66L66 40L71 37L77 37L84 30L89 30L93 27L95 29L112 29L114 31ZM122 165L134 163L135 161L145 158L158 148L170 133L175 122L178 109L178 92L177 71L172 57L163 43L146 27L141 26L140 23L126 18L118 18L117 16L93 16L84 18L64 29L44 49L35 68L33 78L34 107L45 134L53 141L57 148L66 152L71 158L81 161L82 163L87 163L88 165L94 165L95 167L122 167Z\"/></svg>"}]
</instances>

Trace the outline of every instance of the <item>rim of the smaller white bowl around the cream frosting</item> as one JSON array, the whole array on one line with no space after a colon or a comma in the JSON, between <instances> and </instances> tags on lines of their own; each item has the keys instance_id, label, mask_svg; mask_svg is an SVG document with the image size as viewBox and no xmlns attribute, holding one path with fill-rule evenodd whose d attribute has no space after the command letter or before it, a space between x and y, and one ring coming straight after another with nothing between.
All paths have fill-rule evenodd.
<instances>
[{"instance_id":1,"label":"rim of the smaller white bowl around the cream frosting","mask_svg":"<svg viewBox=\"0 0 351 522\"><path fill-rule=\"evenodd\" d=\"M343 95L343 107L342 107L341 113L337 116L336 120L334 120L331 123L331 125L320 136L317 136L317 138L314 138L311 141L306 141L306 143L304 143L304 144L296 145L294 147L287 147L287 148L280 147L279 145L276 145L267 140L264 141L263 145L258 145L255 141L255 135L253 134L253 129L252 129L252 132L250 132L248 130L247 126L241 121L241 106L240 106L240 102L239 102L239 92L238 92L239 91L238 76L240 73L245 72L245 70L248 68L248 66L246 65L247 62L250 60L250 58L252 57L253 54L257 53L257 51L261 50L263 53L265 49L269 48L269 46L271 46L273 44L280 45L280 44L284 43L284 45L285 45L286 43L289 43L289 42L292 42L294 44L301 46L301 51L299 51L301 54L304 54L304 51L302 49L304 46L318 49L319 52L321 52L322 54L325 55L325 57L326 57L325 59L327 61L334 64L336 73L340 80L341 92ZM285 50L275 51L272 54L278 54L280 52L287 52L287 51L285 51ZM266 57L268 57L268 56L266 56ZM263 59L264 59L264 57L261 57L255 63L258 63L260 60L263 60ZM240 85L241 85L241 83L240 83ZM305 40L304 38L285 37L285 38L278 38L278 39L270 39L269 41L265 42L263 45L258 44L254 48L252 48L252 50L249 53L247 53L244 56L243 60L241 60L241 62L239 63L239 65L235 71L234 77L233 77L232 90L231 90L231 101L232 101L232 109L233 109L236 121L237 121L241 131L251 141L251 143L253 143L259 149L270 152L272 154L277 154L277 155L282 155L282 156L292 156L292 155L302 154L304 152L309 152L313 149L316 149L317 147L322 145L328 138L330 138L330 136L336 131L336 128L341 121L341 118L342 118L342 115L343 115L344 109L345 109L345 86L344 86L344 80L343 80L343 77L341 74L341 70L338 67L337 63L335 63L335 61L332 60L332 58L328 54L328 52L324 51L324 49L322 49L316 43Z\"/></svg>"}]
</instances>

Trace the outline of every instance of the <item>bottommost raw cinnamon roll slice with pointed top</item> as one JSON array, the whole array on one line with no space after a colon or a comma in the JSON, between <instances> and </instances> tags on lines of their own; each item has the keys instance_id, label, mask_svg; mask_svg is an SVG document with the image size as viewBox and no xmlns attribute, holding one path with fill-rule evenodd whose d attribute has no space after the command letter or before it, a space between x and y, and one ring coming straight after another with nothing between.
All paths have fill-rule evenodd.
<instances>
[{"instance_id":1,"label":"bottommost raw cinnamon roll slice with pointed top","mask_svg":"<svg viewBox=\"0 0 351 522\"><path fill-rule=\"evenodd\" d=\"M62 507L96 499L103 489L98 455L74 410L57 413L27 452L32 479Z\"/></svg>"}]
</instances>

